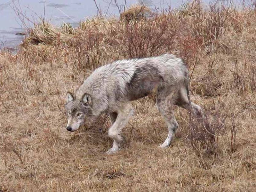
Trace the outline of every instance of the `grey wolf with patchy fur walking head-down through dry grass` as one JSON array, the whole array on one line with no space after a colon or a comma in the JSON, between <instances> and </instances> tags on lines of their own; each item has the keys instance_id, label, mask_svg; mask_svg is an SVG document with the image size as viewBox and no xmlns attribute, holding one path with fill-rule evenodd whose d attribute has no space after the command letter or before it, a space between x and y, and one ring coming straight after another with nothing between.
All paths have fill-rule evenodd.
<instances>
[{"instance_id":1,"label":"grey wolf with patchy fur walking head-down through dry grass","mask_svg":"<svg viewBox=\"0 0 256 192\"><path fill-rule=\"evenodd\" d=\"M181 58L163 54L142 59L117 60L96 68L75 94L67 92L67 130L76 131L107 113L112 122L108 136L113 139L107 154L119 151L121 131L133 114L131 101L156 92L156 106L168 127L161 148L167 148L178 129L173 105L201 116L201 107L191 102L188 68Z\"/></svg>"}]
</instances>

